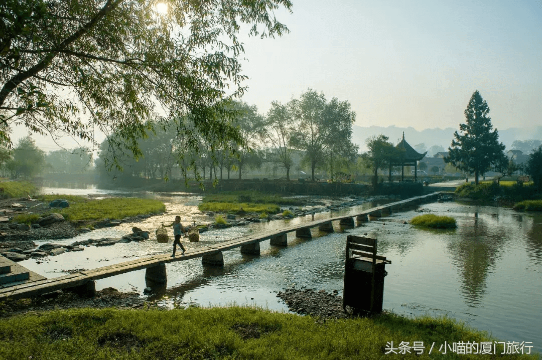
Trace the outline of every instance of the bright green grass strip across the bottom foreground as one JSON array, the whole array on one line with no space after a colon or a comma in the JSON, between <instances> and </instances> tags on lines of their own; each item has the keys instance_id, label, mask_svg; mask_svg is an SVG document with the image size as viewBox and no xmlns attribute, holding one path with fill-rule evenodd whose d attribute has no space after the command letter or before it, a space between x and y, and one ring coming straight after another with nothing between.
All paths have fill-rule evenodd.
<instances>
[{"instance_id":1,"label":"bright green grass strip across the bottom foreground","mask_svg":"<svg viewBox=\"0 0 542 360\"><path fill-rule=\"evenodd\" d=\"M396 315L315 321L253 307L55 310L0 320L0 358L19 359L457 359L447 342L494 341L449 318ZM389 343L423 342L422 355L385 355ZM435 343L431 355L431 344ZM461 358L536 358L519 355Z\"/></svg>"}]
</instances>

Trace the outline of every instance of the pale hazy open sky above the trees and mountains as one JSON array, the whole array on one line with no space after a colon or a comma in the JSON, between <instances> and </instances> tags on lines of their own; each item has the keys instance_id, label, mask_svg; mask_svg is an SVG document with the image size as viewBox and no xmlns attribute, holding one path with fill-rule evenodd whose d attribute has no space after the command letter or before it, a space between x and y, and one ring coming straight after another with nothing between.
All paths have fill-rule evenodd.
<instances>
[{"instance_id":1,"label":"pale hazy open sky above the trees and mountains","mask_svg":"<svg viewBox=\"0 0 542 360\"><path fill-rule=\"evenodd\" d=\"M241 35L243 101L262 114L311 88L349 101L355 125L458 128L479 90L494 127L542 125L542 0L292 1L275 12L289 34Z\"/></svg>"}]
</instances>

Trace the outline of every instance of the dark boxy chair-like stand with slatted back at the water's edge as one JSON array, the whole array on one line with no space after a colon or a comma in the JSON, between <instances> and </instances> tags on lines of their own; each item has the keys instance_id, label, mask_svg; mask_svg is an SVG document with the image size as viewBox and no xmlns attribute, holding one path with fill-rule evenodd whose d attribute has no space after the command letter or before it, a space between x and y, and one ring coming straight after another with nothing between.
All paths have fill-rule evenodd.
<instances>
[{"instance_id":1,"label":"dark boxy chair-like stand with slatted back at the water's edge","mask_svg":"<svg viewBox=\"0 0 542 360\"><path fill-rule=\"evenodd\" d=\"M382 312L384 277L388 274L383 256L376 254L377 240L348 235L343 285L343 308L369 313ZM374 271L373 271L374 269Z\"/></svg>"}]
</instances>

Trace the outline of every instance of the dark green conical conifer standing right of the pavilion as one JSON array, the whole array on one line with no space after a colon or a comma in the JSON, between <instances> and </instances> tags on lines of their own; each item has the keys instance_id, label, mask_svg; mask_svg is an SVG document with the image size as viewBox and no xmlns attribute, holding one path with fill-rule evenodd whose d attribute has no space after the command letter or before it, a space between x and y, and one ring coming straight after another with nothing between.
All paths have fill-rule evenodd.
<instances>
[{"instance_id":1,"label":"dark green conical conifer standing right of the pavilion","mask_svg":"<svg viewBox=\"0 0 542 360\"><path fill-rule=\"evenodd\" d=\"M470 97L464 111L466 123L459 125L461 134L455 132L449 156L444 158L463 171L474 173L475 184L478 185L480 174L488 171L502 159L505 146L499 143L499 133L493 130L489 107L478 90Z\"/></svg>"}]
</instances>

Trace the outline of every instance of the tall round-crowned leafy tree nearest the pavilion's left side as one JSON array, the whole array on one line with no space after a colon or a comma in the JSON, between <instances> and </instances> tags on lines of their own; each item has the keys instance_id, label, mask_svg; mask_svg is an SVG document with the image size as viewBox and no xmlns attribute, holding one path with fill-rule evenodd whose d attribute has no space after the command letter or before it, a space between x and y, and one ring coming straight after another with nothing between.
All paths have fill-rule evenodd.
<instances>
[{"instance_id":1,"label":"tall round-crowned leafy tree nearest the pavilion's left side","mask_svg":"<svg viewBox=\"0 0 542 360\"><path fill-rule=\"evenodd\" d=\"M312 180L318 165L333 161L335 156L350 156L357 151L352 143L352 124L356 113L348 101L333 98L308 89L299 100L292 100L296 129L291 144L305 151L305 161L311 166Z\"/></svg>"}]
</instances>

